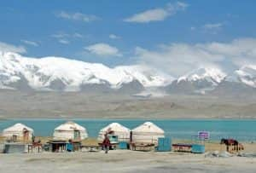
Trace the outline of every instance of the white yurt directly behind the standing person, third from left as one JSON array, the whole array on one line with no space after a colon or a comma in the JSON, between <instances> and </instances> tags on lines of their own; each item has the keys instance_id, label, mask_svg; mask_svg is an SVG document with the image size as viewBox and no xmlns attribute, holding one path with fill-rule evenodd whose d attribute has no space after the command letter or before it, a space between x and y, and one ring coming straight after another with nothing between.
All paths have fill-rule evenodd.
<instances>
[{"instance_id":1,"label":"white yurt directly behind the standing person, third from left","mask_svg":"<svg viewBox=\"0 0 256 173\"><path fill-rule=\"evenodd\" d=\"M131 130L119 123L108 124L108 126L100 130L98 140L103 141L105 134L110 131L113 135L118 136L119 141L130 141Z\"/></svg>"}]
</instances>

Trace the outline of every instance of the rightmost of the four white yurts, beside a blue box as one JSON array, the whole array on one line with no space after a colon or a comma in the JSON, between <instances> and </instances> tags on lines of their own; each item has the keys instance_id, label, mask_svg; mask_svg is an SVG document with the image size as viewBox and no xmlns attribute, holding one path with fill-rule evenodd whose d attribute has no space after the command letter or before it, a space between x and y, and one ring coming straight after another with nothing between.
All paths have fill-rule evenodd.
<instances>
[{"instance_id":1,"label":"rightmost of the four white yurts, beside a blue box","mask_svg":"<svg viewBox=\"0 0 256 173\"><path fill-rule=\"evenodd\" d=\"M165 137L165 131L157 125L146 122L131 130L132 142L154 143L158 142L159 137Z\"/></svg>"}]
</instances>

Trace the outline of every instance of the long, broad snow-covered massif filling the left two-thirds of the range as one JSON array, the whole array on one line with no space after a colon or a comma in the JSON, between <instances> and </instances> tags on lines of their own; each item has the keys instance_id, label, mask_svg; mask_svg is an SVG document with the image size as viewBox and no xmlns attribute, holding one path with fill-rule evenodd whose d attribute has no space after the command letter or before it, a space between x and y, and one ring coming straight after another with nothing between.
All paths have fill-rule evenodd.
<instances>
[{"instance_id":1,"label":"long, broad snow-covered massif filling the left two-thirds of the range","mask_svg":"<svg viewBox=\"0 0 256 173\"><path fill-rule=\"evenodd\" d=\"M72 90L102 86L122 89L169 84L171 78L146 66L117 66L86 63L61 57L27 58L0 52L0 88Z\"/></svg>"}]
</instances>

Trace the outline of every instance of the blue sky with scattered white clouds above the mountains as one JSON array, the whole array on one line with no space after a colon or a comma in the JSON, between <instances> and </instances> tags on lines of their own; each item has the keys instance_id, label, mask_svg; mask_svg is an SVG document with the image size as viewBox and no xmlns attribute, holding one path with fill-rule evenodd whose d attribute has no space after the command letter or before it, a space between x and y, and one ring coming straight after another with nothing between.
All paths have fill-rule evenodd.
<instances>
[{"instance_id":1,"label":"blue sky with scattered white clouds above the mountains","mask_svg":"<svg viewBox=\"0 0 256 173\"><path fill-rule=\"evenodd\" d=\"M175 65L173 60L170 62L163 59L168 59L170 54L173 55L172 59L186 59L186 55L180 57L178 54L176 57L174 54L181 51L181 45L193 49L202 44L203 48L196 47L198 52L207 49L207 53L221 54L225 58L212 61L210 57L209 61L202 61L201 66L240 66L254 63L254 56L247 57L241 63L239 57L236 60L233 57L227 59L226 56L230 54L226 51L219 53L219 49L214 49L215 52L212 53L212 47L207 47L207 43L219 43L235 49L242 42L247 48L237 54L253 52L252 43L256 37L256 1L253 0L45 2L1 2L0 43L5 45L2 47L13 46L19 50L18 53L26 56L64 56L101 62L108 66L137 63L152 65L158 61L160 64L168 62L168 66L172 66ZM236 43L237 39L241 41ZM171 73L188 72L192 67L197 67L192 66L196 61L179 62L183 63L179 66L183 69ZM187 63L192 65L188 65L188 68Z\"/></svg>"}]
</instances>

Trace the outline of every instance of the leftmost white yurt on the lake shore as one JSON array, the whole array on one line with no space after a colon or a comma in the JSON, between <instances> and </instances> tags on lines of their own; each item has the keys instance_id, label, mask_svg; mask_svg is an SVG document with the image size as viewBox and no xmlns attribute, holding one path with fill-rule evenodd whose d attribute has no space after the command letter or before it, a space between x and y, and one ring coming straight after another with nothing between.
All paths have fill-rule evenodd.
<instances>
[{"instance_id":1,"label":"leftmost white yurt on the lake shore","mask_svg":"<svg viewBox=\"0 0 256 173\"><path fill-rule=\"evenodd\" d=\"M12 138L12 137L16 136L17 140L22 140L24 137L24 130L28 131L28 140L31 140L34 130L32 130L32 128L27 127L26 125L20 124L20 123L15 124L5 130L3 130L2 135L7 138Z\"/></svg>"}]
</instances>

